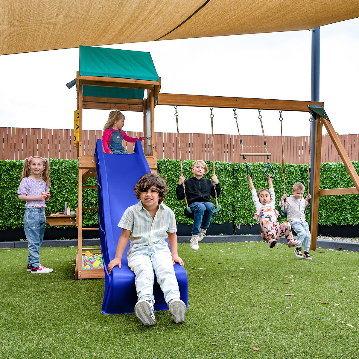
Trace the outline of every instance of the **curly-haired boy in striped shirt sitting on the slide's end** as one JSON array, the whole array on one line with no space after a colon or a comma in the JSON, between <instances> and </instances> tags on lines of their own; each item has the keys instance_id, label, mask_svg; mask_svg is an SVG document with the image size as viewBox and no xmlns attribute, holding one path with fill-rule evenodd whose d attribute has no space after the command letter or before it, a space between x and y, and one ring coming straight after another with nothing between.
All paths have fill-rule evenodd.
<instances>
[{"instance_id":1,"label":"curly-haired boy in striped shirt sitting on the slide's end","mask_svg":"<svg viewBox=\"0 0 359 359\"><path fill-rule=\"evenodd\" d=\"M139 202L127 208L118 223L122 233L115 258L108 264L108 272L111 274L115 266L121 268L121 258L130 239L127 261L135 273L136 317L144 325L156 323L153 309L155 272L174 322L181 323L185 320L187 308L180 299L173 265L177 262L183 266L183 261L177 253L176 218L163 203L167 185L157 174L146 173L137 182L134 192ZM165 241L167 237L171 251Z\"/></svg>"}]
</instances>

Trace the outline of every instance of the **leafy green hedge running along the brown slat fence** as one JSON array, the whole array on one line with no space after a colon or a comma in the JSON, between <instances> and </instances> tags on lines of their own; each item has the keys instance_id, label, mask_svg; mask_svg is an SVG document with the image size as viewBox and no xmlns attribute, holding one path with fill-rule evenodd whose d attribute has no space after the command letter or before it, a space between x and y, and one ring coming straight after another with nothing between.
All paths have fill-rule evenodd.
<instances>
[{"instance_id":1,"label":"leafy green hedge running along the brown slat fence","mask_svg":"<svg viewBox=\"0 0 359 359\"><path fill-rule=\"evenodd\" d=\"M184 216L184 201L177 201L176 186L181 174L180 162L177 160L158 160L158 174L167 180L169 192L165 203L176 214L178 223L191 224L191 220ZM212 162L207 162L210 169L206 177L213 174ZM192 176L192 161L182 161L183 174L186 178ZM358 172L359 162L353 162ZM0 230L8 228L22 228L24 202L18 200L17 189L21 179L22 161L0 161L0 190L3 197L1 206ZM262 170L264 163L253 163L253 184L256 189L267 188L268 183ZM283 194L283 178L281 164L272 164L276 172L273 180L278 204ZM71 210L78 207L78 161L50 159L51 200L47 202L46 214L59 212L64 207L64 202ZM308 184L308 169L306 165L287 164L286 193L290 194L295 182ZM251 199L248 178L244 164L216 162L215 173L221 185L219 203L222 210L213 219L214 223L256 224L253 219L255 208ZM96 178L89 178L84 185L95 186ZM321 189L353 187L353 183L342 163L322 163L321 165ZM306 188L307 193L307 188ZM321 196L319 200L319 224L320 225L356 225L359 224L359 208L357 202L359 195ZM83 206L97 207L97 190L87 189L83 191ZM309 211L307 213L309 219ZM98 224L97 211L87 210L83 213L83 225L95 226Z\"/></svg>"}]
</instances>

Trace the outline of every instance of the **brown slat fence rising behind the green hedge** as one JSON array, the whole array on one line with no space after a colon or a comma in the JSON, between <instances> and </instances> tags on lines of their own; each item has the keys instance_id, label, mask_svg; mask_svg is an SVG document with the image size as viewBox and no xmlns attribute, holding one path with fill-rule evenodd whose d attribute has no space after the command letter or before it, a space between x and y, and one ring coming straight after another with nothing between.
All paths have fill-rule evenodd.
<instances>
[{"instance_id":1,"label":"brown slat fence rising behind the green hedge","mask_svg":"<svg viewBox=\"0 0 359 359\"><path fill-rule=\"evenodd\" d=\"M126 132L131 137L143 136L143 132ZM350 160L359 160L359 135L339 135ZM94 154L97 139L102 138L102 131L83 130L84 155ZM41 155L46 158L76 159L74 147L74 130L63 129L29 129L17 127L0 127L1 160L21 160L29 155ZM262 136L243 135L245 152L265 152ZM268 151L272 153L270 161L281 163L281 137L266 136ZM308 163L308 136L283 137L284 162L293 164ZM177 134L156 132L157 158L180 159ZM180 134L182 159L212 160L210 134ZM1 146L2 145L2 146ZM128 152L133 152L134 144L123 141ZM238 135L214 135L215 160L240 162ZM266 162L266 157L248 157L248 162ZM328 135L322 138L322 162L341 162L341 159Z\"/></svg>"}]
</instances>

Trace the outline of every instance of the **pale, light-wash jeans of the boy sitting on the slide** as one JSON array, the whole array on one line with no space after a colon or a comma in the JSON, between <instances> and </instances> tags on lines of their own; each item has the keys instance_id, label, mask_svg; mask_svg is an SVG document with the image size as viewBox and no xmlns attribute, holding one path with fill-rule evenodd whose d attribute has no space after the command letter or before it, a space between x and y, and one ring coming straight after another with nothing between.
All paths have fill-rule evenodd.
<instances>
[{"instance_id":1,"label":"pale, light-wash jeans of the boy sitting on the slide","mask_svg":"<svg viewBox=\"0 0 359 359\"><path fill-rule=\"evenodd\" d=\"M153 244L131 248L127 262L135 273L135 285L138 300L150 299L155 302L153 295L154 274L161 287L166 303L171 299L180 298L180 290L176 274L174 274L172 255L164 244Z\"/></svg>"}]
</instances>

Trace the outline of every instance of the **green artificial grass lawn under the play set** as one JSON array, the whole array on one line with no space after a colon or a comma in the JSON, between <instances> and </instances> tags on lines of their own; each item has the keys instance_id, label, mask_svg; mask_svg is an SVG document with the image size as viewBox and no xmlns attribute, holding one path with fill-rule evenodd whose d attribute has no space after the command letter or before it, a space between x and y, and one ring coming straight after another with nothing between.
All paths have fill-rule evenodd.
<instances>
[{"instance_id":1,"label":"green artificial grass lawn under the play set","mask_svg":"<svg viewBox=\"0 0 359 359\"><path fill-rule=\"evenodd\" d=\"M101 313L104 280L74 281L76 252L42 248L54 271L32 275L27 248L1 250L1 358L359 358L359 253L317 249L309 261L284 244L179 244L186 321L156 312L145 327Z\"/></svg>"}]
</instances>

